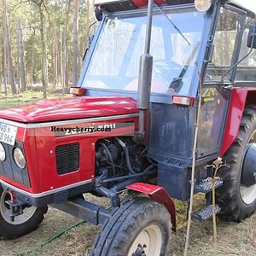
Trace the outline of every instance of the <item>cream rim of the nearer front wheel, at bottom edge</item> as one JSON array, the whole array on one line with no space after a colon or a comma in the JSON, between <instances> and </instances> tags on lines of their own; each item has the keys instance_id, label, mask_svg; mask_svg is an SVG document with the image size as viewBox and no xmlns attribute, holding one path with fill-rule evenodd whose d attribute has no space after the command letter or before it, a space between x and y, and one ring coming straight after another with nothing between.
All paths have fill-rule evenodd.
<instances>
[{"instance_id":1,"label":"cream rim of the nearer front wheel, at bottom edge","mask_svg":"<svg viewBox=\"0 0 256 256\"><path fill-rule=\"evenodd\" d=\"M129 256L160 255L162 247L161 230L156 225L150 225L141 231L129 250Z\"/></svg>"}]
</instances>

